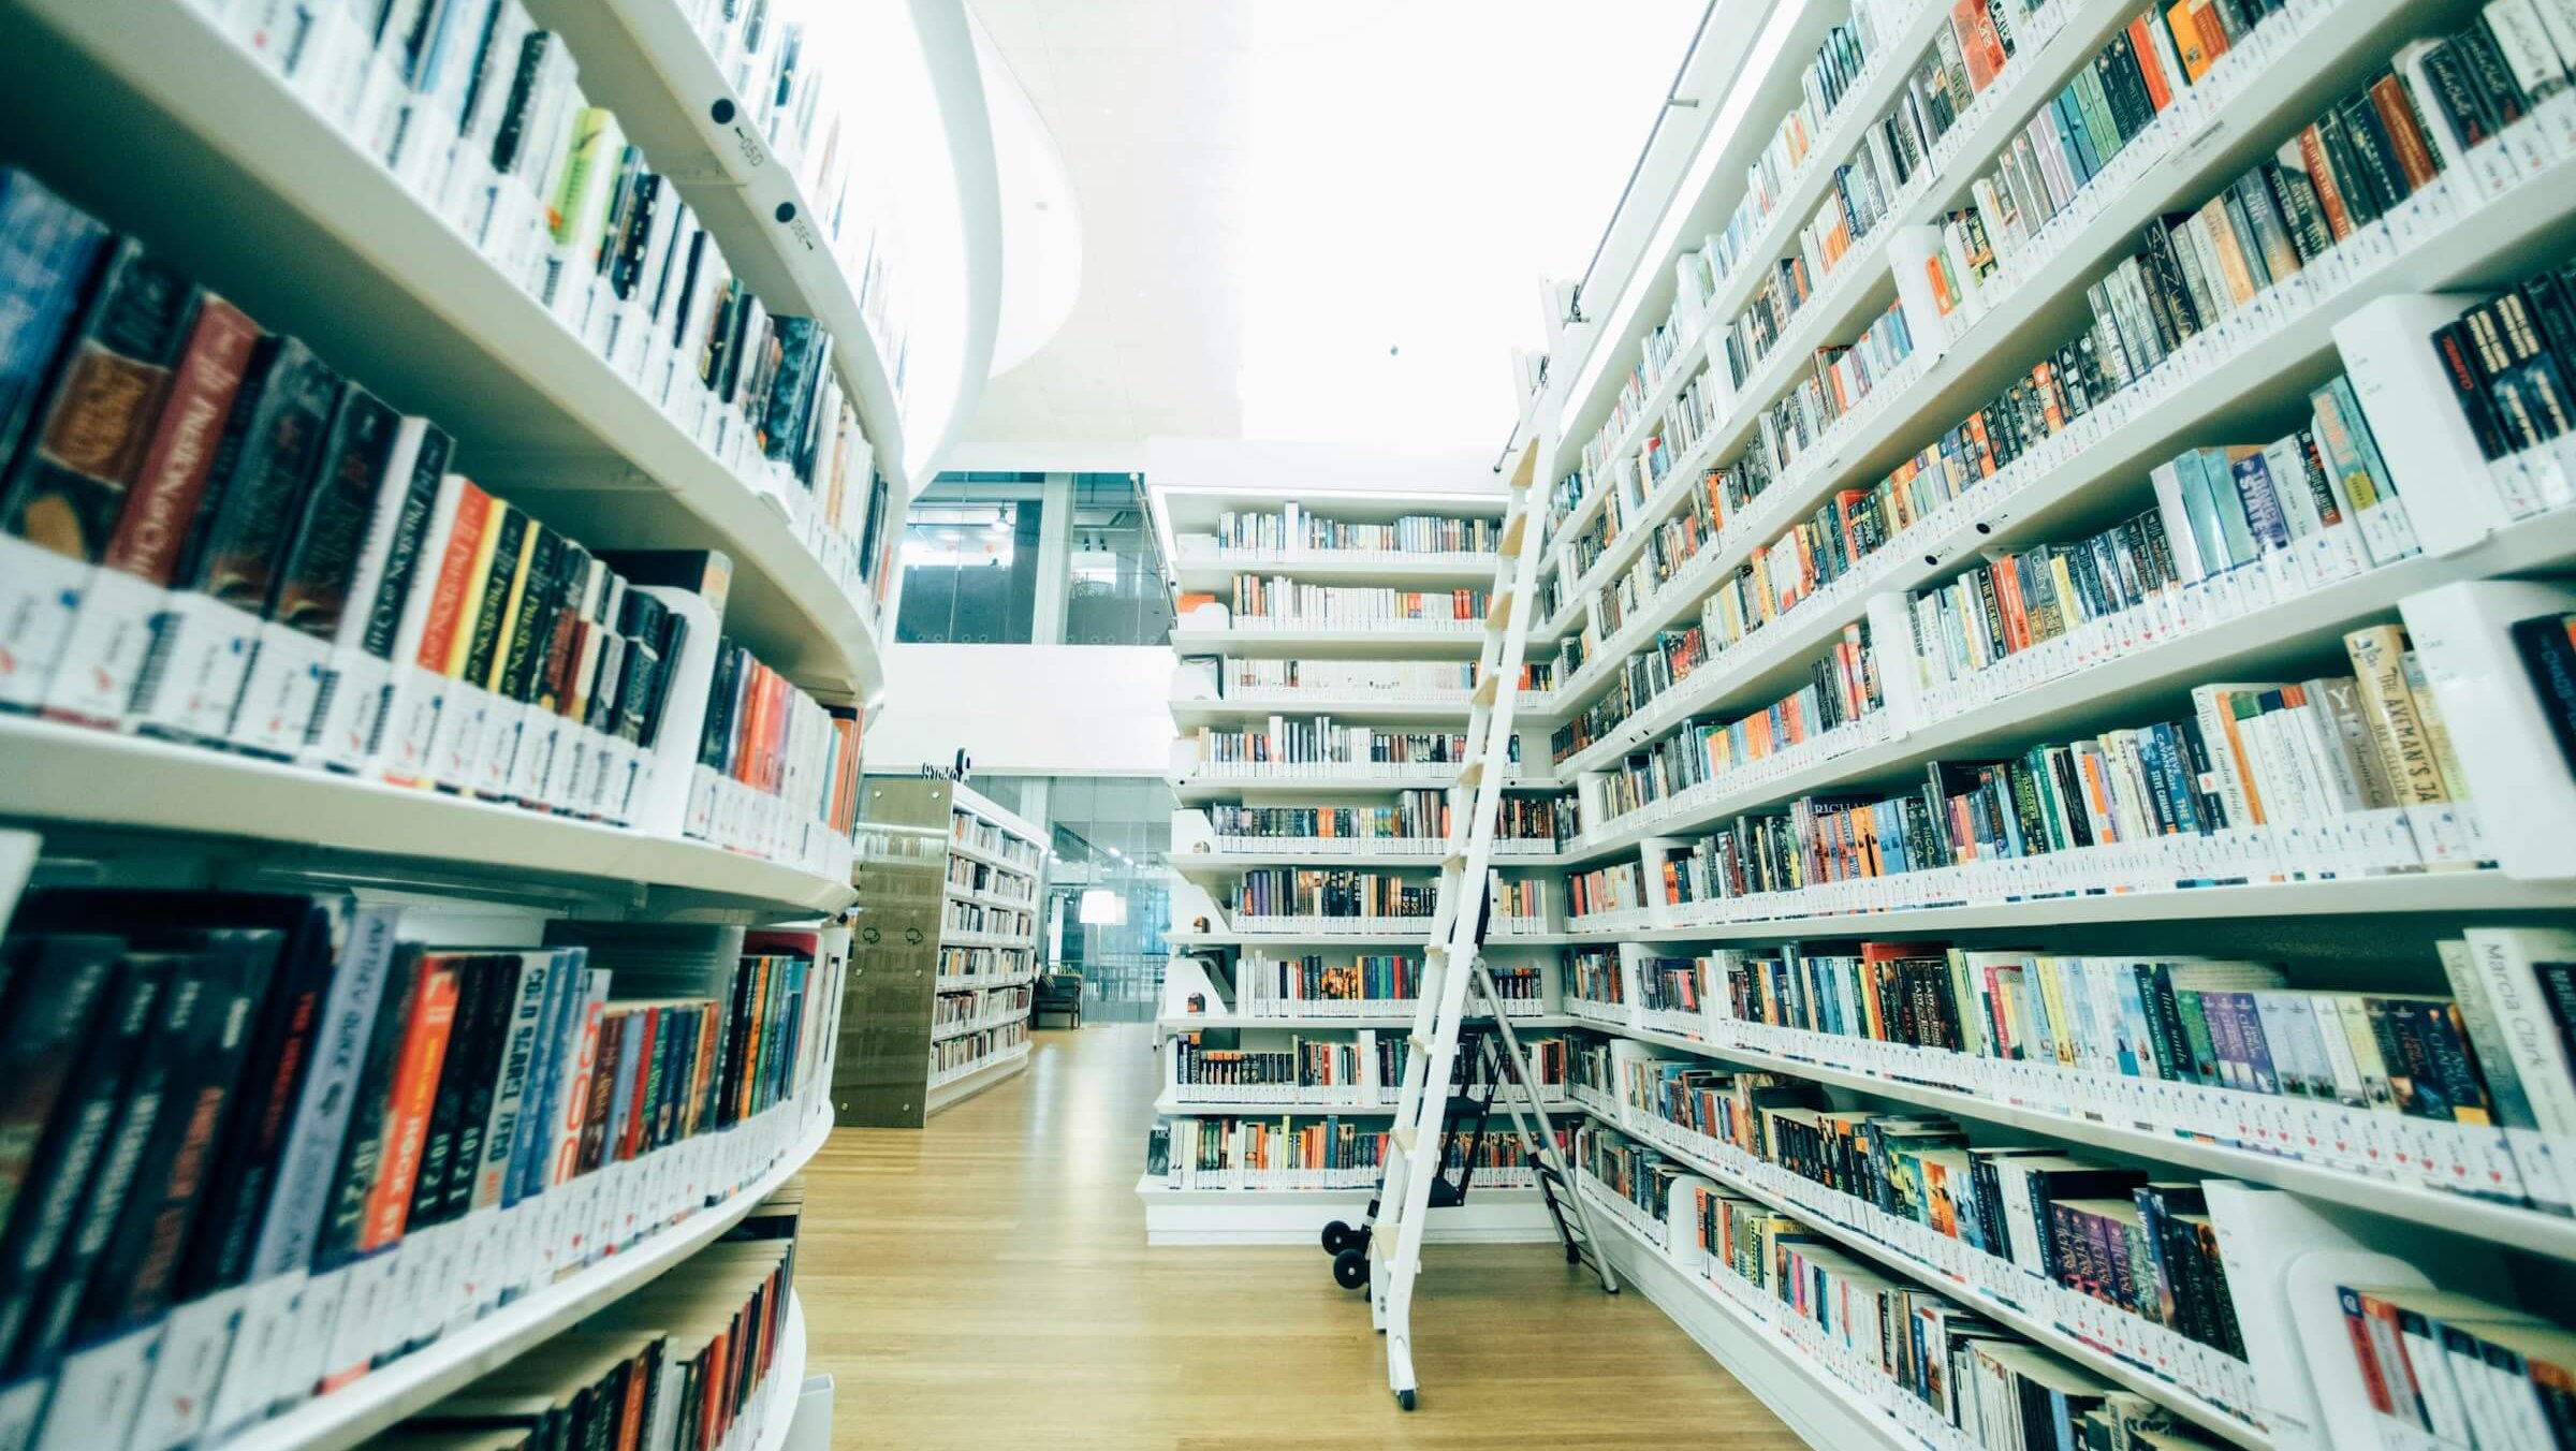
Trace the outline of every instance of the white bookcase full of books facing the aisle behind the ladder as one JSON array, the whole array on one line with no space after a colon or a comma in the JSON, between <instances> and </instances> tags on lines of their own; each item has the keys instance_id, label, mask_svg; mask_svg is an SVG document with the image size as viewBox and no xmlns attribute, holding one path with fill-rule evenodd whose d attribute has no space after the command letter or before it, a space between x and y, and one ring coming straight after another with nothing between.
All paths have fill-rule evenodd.
<instances>
[{"instance_id":1,"label":"white bookcase full of books facing the aisle behind the ladder","mask_svg":"<svg viewBox=\"0 0 2576 1451\"><path fill-rule=\"evenodd\" d=\"M1157 487L1180 665L1164 1088L1139 1196L1157 1245L1306 1242L1376 1188L1422 979L1504 492ZM1345 624L1347 621L1347 624ZM1528 698L1540 698L1535 670ZM1497 840L1515 1026L1564 1062L1556 791ZM1564 1075L1543 1100L1564 1108ZM1479 1165L1453 1240L1548 1235L1528 1168Z\"/></svg>"}]
</instances>

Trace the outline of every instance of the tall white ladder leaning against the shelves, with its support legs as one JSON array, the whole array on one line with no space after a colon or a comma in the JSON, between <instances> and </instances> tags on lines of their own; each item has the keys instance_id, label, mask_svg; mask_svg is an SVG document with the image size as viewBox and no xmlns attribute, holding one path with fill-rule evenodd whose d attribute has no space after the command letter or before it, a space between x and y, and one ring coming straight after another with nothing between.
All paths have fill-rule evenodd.
<instances>
[{"instance_id":1,"label":"tall white ladder leaning against the shelves, with its support legs","mask_svg":"<svg viewBox=\"0 0 2576 1451\"><path fill-rule=\"evenodd\" d=\"M1556 1147L1548 1111L1538 1106L1538 1075L1530 1072L1520 1039L1502 1021L1502 1003L1494 1000L1492 977L1479 956L1494 863L1494 822L1502 812L1502 781L1512 763L1512 706L1538 608L1538 559L1548 533L1548 505L1538 477L1548 456L1546 438L1538 438L1512 469L1512 503L1504 513L1502 559L1494 567L1497 588L1484 616L1484 652L1476 662L1476 696L1466 724L1466 760L1450 791L1450 832L1440 856L1440 907L1425 946L1422 1000L1414 1008L1414 1031L1404 1054L1404 1093L1396 1098L1386 1178L1378 1186L1378 1219L1368 1235L1368 1314L1386 1332L1386 1384L1404 1410L1414 1407L1417 1387L1412 1309L1414 1278L1422 1273L1422 1229L1432 1209L1432 1186L1440 1180L1443 1121L1458 1062L1458 1028L1471 990L1476 1005L1494 1013L1502 1046L1512 1057L1512 1077L1528 1088L1530 1098L1522 1108L1510 1085L1492 1085L1512 1106L1512 1124L1522 1142L1533 1137L1538 1142L1538 1162L1530 1168L1538 1170L1538 1188L1556 1219L1558 1237L1566 1242L1566 1258L1589 1260L1602 1289L1618 1291L1600 1240L1592 1235L1592 1211L1574 1193L1574 1178ZM1530 1119L1522 1116L1525 1111L1538 1121L1535 1134ZM1566 1211L1571 1211L1571 1224Z\"/></svg>"}]
</instances>

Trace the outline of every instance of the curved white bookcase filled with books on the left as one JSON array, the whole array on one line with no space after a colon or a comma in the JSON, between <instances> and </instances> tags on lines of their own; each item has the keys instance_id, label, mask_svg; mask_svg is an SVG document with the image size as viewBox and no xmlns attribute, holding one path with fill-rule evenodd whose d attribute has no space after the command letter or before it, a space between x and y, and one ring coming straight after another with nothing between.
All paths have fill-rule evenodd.
<instances>
[{"instance_id":1,"label":"curved white bookcase filled with books on the left","mask_svg":"<svg viewBox=\"0 0 2576 1451\"><path fill-rule=\"evenodd\" d=\"M904 327L716 10L0 5L0 1446L786 1443Z\"/></svg>"}]
</instances>

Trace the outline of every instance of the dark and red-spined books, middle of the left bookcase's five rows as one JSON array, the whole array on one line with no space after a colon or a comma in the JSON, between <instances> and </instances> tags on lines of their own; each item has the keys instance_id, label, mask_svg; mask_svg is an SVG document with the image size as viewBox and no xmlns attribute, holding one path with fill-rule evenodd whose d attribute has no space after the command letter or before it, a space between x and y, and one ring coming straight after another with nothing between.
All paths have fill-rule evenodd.
<instances>
[{"instance_id":1,"label":"dark and red-spined books, middle of the left bookcase's five rows","mask_svg":"<svg viewBox=\"0 0 2576 1451\"><path fill-rule=\"evenodd\" d=\"M721 554L592 554L26 173L0 211L0 704L848 858L860 716L714 634Z\"/></svg>"}]
</instances>

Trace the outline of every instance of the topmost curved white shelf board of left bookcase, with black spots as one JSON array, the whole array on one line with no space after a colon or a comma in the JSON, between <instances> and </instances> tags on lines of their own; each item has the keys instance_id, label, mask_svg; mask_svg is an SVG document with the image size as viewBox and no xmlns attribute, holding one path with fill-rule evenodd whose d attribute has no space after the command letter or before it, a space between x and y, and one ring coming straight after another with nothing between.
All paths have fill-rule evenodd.
<instances>
[{"instance_id":1,"label":"topmost curved white shelf board of left bookcase, with black spots","mask_svg":"<svg viewBox=\"0 0 2576 1451\"><path fill-rule=\"evenodd\" d=\"M904 407L884 340L868 327L848 268L822 232L796 160L770 149L677 0L528 0L582 67L582 93L616 111L626 139L680 186L734 273L770 312L814 317L858 405L894 497L909 497ZM845 82L853 77L842 77ZM734 121L716 121L716 116Z\"/></svg>"}]
</instances>

